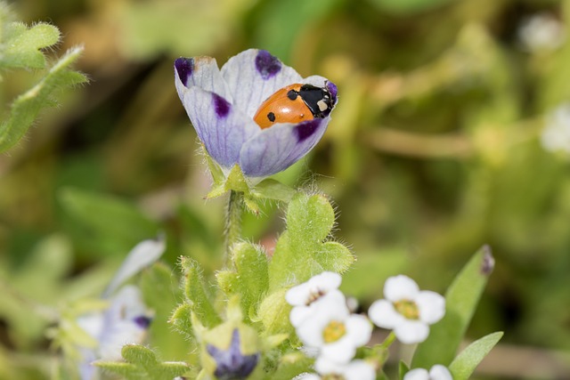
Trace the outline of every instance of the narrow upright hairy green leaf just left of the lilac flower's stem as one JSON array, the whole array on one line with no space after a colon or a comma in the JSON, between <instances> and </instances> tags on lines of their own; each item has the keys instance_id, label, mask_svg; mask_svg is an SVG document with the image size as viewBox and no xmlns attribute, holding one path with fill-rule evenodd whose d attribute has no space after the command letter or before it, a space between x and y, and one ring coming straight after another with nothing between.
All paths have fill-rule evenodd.
<instances>
[{"instance_id":1,"label":"narrow upright hairy green leaf just left of the lilac flower's stem","mask_svg":"<svg viewBox=\"0 0 570 380\"><path fill-rule=\"evenodd\" d=\"M199 263L183 256L181 264L184 273L184 295L191 305L191 311L203 326L211 328L219 325L222 319L208 298Z\"/></svg>"}]
</instances>

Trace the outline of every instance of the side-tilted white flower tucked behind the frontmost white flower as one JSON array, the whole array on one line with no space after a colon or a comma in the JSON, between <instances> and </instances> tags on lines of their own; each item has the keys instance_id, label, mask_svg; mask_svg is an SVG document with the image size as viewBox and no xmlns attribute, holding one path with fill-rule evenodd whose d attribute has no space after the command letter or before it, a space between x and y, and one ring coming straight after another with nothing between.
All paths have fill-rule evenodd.
<instances>
[{"instance_id":1,"label":"side-tilted white flower tucked behind the frontmost white flower","mask_svg":"<svg viewBox=\"0 0 570 380\"><path fill-rule=\"evenodd\" d=\"M338 290L341 277L332 271L323 271L297 287L291 287L285 300L293 307L289 314L291 325L298 327L314 312L315 303L330 293L342 293ZM344 297L344 296L343 296Z\"/></svg>"}]
</instances>

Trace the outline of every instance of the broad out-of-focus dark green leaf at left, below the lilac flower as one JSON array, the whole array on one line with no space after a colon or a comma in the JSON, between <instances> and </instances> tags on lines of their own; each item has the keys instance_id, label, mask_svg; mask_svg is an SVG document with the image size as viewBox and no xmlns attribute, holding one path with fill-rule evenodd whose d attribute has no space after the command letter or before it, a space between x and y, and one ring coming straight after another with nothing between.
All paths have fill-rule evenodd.
<instances>
[{"instance_id":1,"label":"broad out-of-focus dark green leaf at left, below the lilac flower","mask_svg":"<svg viewBox=\"0 0 570 380\"><path fill-rule=\"evenodd\" d=\"M126 254L143 239L158 235L158 223L123 199L72 188L59 196L69 229L90 252Z\"/></svg>"}]
</instances>

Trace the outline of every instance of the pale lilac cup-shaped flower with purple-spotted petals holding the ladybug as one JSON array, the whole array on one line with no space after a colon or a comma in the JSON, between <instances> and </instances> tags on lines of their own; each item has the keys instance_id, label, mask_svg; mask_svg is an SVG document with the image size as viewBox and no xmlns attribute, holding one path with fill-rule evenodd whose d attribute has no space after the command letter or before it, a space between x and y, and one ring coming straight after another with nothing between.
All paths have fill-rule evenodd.
<instances>
[{"instance_id":1,"label":"pale lilac cup-shaped flower with purple-spotted petals holding the ladybug","mask_svg":"<svg viewBox=\"0 0 570 380\"><path fill-rule=\"evenodd\" d=\"M337 102L336 85L324 77L303 78L264 50L239 53L222 69L211 57L175 61L178 96L199 140L226 175L236 164L249 178L279 173L321 140L331 109L322 118L265 129L253 119L268 97L294 84L326 88L333 107Z\"/></svg>"}]
</instances>

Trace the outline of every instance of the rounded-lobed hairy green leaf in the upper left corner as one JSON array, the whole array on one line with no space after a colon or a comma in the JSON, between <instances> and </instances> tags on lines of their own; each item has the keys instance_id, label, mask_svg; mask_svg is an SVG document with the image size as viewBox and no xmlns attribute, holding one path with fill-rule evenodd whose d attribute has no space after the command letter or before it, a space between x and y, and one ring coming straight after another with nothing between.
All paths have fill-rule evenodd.
<instances>
[{"instance_id":1,"label":"rounded-lobed hairy green leaf in the upper left corner","mask_svg":"<svg viewBox=\"0 0 570 380\"><path fill-rule=\"evenodd\" d=\"M45 56L40 49L57 44L59 29L43 22L31 28L21 22L12 22L6 29L0 50L0 67L44 69Z\"/></svg>"}]
</instances>

